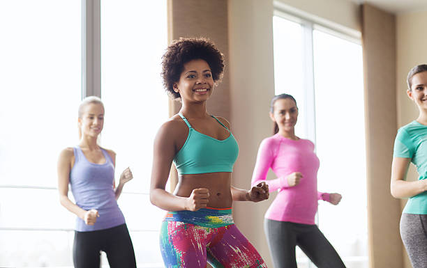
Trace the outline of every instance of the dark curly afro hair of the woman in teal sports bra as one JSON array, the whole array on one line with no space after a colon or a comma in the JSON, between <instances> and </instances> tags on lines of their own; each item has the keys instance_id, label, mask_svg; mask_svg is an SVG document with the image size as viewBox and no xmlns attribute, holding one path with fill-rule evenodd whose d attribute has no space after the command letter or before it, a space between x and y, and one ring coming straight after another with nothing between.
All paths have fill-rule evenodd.
<instances>
[{"instance_id":1,"label":"dark curly afro hair of the woman in teal sports bra","mask_svg":"<svg viewBox=\"0 0 427 268\"><path fill-rule=\"evenodd\" d=\"M162 56L162 79L166 92L172 99L181 99L181 95L174 91L174 83L179 81L183 65L188 61L202 59L211 68L212 78L218 83L223 76L224 55L216 45L207 38L179 38L174 40Z\"/></svg>"}]
</instances>

